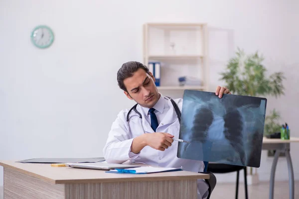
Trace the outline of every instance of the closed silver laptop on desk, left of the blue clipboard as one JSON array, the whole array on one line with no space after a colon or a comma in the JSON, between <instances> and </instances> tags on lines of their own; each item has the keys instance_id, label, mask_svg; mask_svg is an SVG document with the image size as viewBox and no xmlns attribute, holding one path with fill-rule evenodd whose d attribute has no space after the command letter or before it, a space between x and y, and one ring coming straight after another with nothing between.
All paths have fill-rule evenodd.
<instances>
[{"instance_id":1,"label":"closed silver laptop on desk, left of the blue clipboard","mask_svg":"<svg viewBox=\"0 0 299 199\"><path fill-rule=\"evenodd\" d=\"M138 165L129 165L129 164L111 164L111 163L69 163L67 164L72 168L80 168L80 169L98 169L98 170L111 170L111 169L128 169L134 167L140 167Z\"/></svg>"}]
</instances>

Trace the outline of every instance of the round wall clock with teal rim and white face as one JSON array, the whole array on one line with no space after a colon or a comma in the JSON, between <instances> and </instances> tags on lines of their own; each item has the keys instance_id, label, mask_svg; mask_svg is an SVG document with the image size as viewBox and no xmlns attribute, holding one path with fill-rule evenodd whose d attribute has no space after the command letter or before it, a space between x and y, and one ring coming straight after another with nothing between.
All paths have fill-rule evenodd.
<instances>
[{"instance_id":1,"label":"round wall clock with teal rim and white face","mask_svg":"<svg viewBox=\"0 0 299 199\"><path fill-rule=\"evenodd\" d=\"M54 34L48 26L39 25L33 29L31 41L38 48L47 48L53 43Z\"/></svg>"}]
</instances>

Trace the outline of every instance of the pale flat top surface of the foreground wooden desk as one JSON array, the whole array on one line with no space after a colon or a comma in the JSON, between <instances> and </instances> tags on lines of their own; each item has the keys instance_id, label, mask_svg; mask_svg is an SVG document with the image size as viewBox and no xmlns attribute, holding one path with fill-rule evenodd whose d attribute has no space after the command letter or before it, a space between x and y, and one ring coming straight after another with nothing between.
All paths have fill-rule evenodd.
<instances>
[{"instance_id":1,"label":"pale flat top surface of the foreground wooden desk","mask_svg":"<svg viewBox=\"0 0 299 199\"><path fill-rule=\"evenodd\" d=\"M24 174L43 179L54 184L64 183L106 183L120 181L159 181L182 179L208 179L209 175L188 171L163 172L152 174L113 174L104 170L51 167L50 164L17 163L0 161L0 166L18 170Z\"/></svg>"}]
</instances>

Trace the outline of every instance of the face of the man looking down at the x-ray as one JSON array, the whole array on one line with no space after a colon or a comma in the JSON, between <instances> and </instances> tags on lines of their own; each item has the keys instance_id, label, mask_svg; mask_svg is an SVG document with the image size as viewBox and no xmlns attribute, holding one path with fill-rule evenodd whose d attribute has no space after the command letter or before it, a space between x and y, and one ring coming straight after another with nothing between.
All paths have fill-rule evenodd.
<instances>
[{"instance_id":1,"label":"face of the man looking down at the x-ray","mask_svg":"<svg viewBox=\"0 0 299 199\"><path fill-rule=\"evenodd\" d=\"M158 90L152 74L139 69L130 78L124 80L128 92L124 92L130 100L135 100L141 106L151 108L158 100Z\"/></svg>"}]
</instances>

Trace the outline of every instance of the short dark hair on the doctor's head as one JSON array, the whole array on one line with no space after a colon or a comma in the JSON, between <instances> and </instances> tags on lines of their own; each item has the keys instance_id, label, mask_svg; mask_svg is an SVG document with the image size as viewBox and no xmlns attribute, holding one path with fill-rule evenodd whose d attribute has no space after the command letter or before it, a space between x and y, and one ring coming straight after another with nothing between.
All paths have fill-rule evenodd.
<instances>
[{"instance_id":1,"label":"short dark hair on the doctor's head","mask_svg":"<svg viewBox=\"0 0 299 199\"><path fill-rule=\"evenodd\" d=\"M118 70L117 72L117 82L119 87L128 92L127 88L124 84L124 80L126 78L130 78L133 76L133 74L138 71L138 69L143 69L146 71L146 73L149 74L149 69L147 66L145 66L144 64L140 63L140 62L136 62L136 61L130 61L130 62L126 62L122 65L122 67Z\"/></svg>"}]
</instances>

